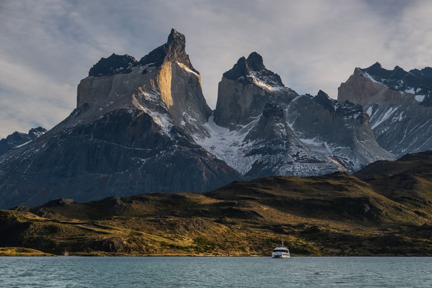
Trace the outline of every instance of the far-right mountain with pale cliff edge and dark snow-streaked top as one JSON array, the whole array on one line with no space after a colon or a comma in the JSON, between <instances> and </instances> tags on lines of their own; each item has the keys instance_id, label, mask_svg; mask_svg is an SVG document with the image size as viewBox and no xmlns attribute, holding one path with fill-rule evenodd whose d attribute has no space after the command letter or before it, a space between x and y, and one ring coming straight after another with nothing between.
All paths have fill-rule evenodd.
<instances>
[{"instance_id":1,"label":"far-right mountain with pale cliff edge and dark snow-streaked top","mask_svg":"<svg viewBox=\"0 0 432 288\"><path fill-rule=\"evenodd\" d=\"M432 149L432 68L360 69L342 83L338 101L362 104L375 137L394 155Z\"/></svg>"}]
</instances>

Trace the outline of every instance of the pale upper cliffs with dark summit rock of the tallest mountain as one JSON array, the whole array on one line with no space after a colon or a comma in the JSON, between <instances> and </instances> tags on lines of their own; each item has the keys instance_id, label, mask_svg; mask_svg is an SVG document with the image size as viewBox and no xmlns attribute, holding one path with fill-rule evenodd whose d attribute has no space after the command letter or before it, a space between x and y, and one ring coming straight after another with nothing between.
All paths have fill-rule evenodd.
<instances>
[{"instance_id":1,"label":"pale upper cliffs with dark summit rock of the tallest mountain","mask_svg":"<svg viewBox=\"0 0 432 288\"><path fill-rule=\"evenodd\" d=\"M200 74L192 66L185 47L184 35L172 29L168 42L139 62L129 60L127 65L118 64L115 69L104 66L105 70L98 70L100 76L89 76L79 83L77 108L85 103L102 108L111 106L111 102L118 99L129 98L130 101L130 95L141 90L153 100L161 98L162 105L178 127L190 134L208 136L204 124L212 111L203 96ZM109 63L112 64L130 59L128 55L113 55L107 58L118 58L110 59ZM93 66L90 72L102 66L101 62L105 63L105 58ZM113 70L118 73L111 75Z\"/></svg>"}]
</instances>

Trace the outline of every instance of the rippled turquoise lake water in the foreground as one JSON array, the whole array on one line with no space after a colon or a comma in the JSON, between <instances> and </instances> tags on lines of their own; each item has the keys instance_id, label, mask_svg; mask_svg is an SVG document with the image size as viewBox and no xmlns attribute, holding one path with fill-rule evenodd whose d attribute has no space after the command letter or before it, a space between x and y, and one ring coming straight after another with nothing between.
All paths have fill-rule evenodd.
<instances>
[{"instance_id":1,"label":"rippled turquoise lake water in the foreground","mask_svg":"<svg viewBox=\"0 0 432 288\"><path fill-rule=\"evenodd\" d=\"M432 287L432 257L0 257L0 287Z\"/></svg>"}]
</instances>

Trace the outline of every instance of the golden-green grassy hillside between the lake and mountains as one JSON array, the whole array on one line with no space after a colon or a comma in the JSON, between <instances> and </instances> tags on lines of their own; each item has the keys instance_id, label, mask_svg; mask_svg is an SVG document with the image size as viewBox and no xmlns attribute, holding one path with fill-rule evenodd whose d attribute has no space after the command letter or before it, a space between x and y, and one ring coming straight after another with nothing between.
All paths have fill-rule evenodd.
<instances>
[{"instance_id":1,"label":"golden-green grassy hillside between the lake and mountains","mask_svg":"<svg viewBox=\"0 0 432 288\"><path fill-rule=\"evenodd\" d=\"M71 255L432 256L432 152L354 175L235 181L210 193L148 193L0 210L0 246Z\"/></svg>"}]
</instances>

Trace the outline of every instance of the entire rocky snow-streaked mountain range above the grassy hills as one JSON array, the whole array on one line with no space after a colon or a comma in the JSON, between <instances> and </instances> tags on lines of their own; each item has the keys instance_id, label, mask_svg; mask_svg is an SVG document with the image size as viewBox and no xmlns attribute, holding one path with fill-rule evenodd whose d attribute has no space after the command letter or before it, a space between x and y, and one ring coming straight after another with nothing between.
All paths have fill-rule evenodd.
<instances>
[{"instance_id":1,"label":"entire rocky snow-streaked mountain range above the grassy hills","mask_svg":"<svg viewBox=\"0 0 432 288\"><path fill-rule=\"evenodd\" d=\"M334 100L285 87L253 52L223 73L212 111L185 37L172 29L140 60L99 60L78 85L76 109L48 132L1 140L0 208L351 174L425 151L431 70L356 68Z\"/></svg>"}]
</instances>

